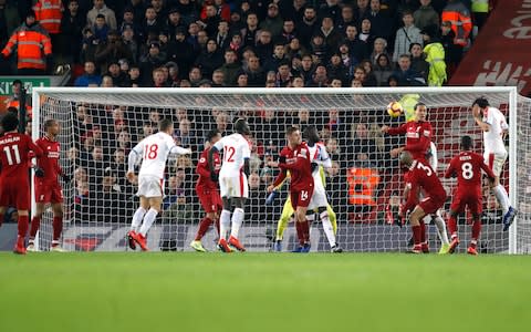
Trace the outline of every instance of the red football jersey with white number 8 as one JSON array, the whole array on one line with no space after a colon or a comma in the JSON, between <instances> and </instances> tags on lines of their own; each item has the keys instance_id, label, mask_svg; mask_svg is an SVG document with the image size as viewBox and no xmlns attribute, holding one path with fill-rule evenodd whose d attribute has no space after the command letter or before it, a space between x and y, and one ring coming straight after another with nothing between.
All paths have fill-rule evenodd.
<instances>
[{"instance_id":1,"label":"red football jersey with white number 8","mask_svg":"<svg viewBox=\"0 0 531 332\"><path fill-rule=\"evenodd\" d=\"M487 173L490 178L494 178L492 169L483 162L483 157L477 153L465 151L455 156L445 177L449 178L457 174L457 187L481 188L481 169Z\"/></svg>"}]
</instances>

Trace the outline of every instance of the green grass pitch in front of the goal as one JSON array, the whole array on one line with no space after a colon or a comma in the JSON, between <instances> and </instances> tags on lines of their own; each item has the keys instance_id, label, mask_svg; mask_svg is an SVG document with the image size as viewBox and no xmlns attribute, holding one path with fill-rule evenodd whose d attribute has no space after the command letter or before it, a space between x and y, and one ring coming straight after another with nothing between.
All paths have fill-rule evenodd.
<instances>
[{"instance_id":1,"label":"green grass pitch in front of the goal","mask_svg":"<svg viewBox=\"0 0 531 332\"><path fill-rule=\"evenodd\" d=\"M0 253L0 331L531 331L531 256Z\"/></svg>"}]
</instances>

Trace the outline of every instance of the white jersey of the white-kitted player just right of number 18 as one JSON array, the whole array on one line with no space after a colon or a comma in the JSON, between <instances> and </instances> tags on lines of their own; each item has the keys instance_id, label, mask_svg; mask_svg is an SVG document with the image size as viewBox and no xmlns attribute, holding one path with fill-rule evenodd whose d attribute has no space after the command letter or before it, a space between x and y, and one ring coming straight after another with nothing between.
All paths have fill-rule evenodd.
<instances>
[{"instance_id":1,"label":"white jersey of the white-kitted player just right of number 18","mask_svg":"<svg viewBox=\"0 0 531 332\"><path fill-rule=\"evenodd\" d=\"M214 145L223 154L219 177L239 176L246 158L251 157L249 142L241 134L225 136Z\"/></svg>"}]
</instances>

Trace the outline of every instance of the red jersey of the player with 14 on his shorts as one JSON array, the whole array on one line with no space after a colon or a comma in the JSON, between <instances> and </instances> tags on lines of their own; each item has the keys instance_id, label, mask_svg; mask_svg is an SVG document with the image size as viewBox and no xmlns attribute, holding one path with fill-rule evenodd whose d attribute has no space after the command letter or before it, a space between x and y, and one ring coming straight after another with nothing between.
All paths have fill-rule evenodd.
<instances>
[{"instance_id":1,"label":"red jersey of the player with 14 on his shorts","mask_svg":"<svg viewBox=\"0 0 531 332\"><path fill-rule=\"evenodd\" d=\"M308 188L309 184L313 185L312 159L306 143L302 142L293 149L285 146L280 152L280 155L285 157L285 163L280 163L279 167L290 170L291 189L303 190ZM280 179L277 184L275 180L274 186L278 186L281 181L282 179Z\"/></svg>"}]
</instances>

